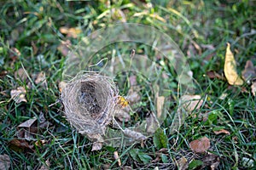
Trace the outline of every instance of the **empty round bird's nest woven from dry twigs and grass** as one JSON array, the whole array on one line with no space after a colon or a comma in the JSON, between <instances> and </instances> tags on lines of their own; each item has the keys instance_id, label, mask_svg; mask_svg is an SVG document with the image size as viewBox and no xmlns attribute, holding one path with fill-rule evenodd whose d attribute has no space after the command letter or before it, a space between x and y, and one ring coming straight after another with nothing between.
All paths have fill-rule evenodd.
<instances>
[{"instance_id":1,"label":"empty round bird's nest woven from dry twigs and grass","mask_svg":"<svg viewBox=\"0 0 256 170\"><path fill-rule=\"evenodd\" d=\"M112 121L118 90L110 77L85 73L74 77L61 92L67 121L97 142Z\"/></svg>"}]
</instances>

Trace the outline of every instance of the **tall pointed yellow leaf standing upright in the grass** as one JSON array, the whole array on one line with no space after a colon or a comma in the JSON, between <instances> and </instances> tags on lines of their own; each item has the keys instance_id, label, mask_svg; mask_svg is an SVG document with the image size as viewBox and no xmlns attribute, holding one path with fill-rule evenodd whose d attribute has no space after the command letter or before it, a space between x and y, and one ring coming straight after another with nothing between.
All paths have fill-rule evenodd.
<instances>
[{"instance_id":1,"label":"tall pointed yellow leaf standing upright in the grass","mask_svg":"<svg viewBox=\"0 0 256 170\"><path fill-rule=\"evenodd\" d=\"M224 74L230 85L242 85L243 81L236 72L236 60L230 50L230 43L227 43L225 63L224 63Z\"/></svg>"}]
</instances>

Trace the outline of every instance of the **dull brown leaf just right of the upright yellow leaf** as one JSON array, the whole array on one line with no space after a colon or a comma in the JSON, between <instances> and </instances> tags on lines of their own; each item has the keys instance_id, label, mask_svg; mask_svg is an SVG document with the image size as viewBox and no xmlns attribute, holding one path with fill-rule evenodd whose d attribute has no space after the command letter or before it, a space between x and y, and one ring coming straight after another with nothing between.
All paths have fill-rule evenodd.
<instances>
[{"instance_id":1,"label":"dull brown leaf just right of the upright yellow leaf","mask_svg":"<svg viewBox=\"0 0 256 170\"><path fill-rule=\"evenodd\" d=\"M256 77L256 71L251 60L247 60L247 64L244 67L244 70L241 72L242 78L250 83L253 78Z\"/></svg>"}]
</instances>

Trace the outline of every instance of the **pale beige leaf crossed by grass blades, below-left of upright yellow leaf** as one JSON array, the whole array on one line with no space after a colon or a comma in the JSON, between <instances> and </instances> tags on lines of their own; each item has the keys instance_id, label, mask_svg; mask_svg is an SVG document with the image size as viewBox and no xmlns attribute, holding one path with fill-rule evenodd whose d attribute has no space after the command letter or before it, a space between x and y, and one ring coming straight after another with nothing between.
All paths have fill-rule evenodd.
<instances>
[{"instance_id":1,"label":"pale beige leaf crossed by grass blades, below-left of upright yellow leaf","mask_svg":"<svg viewBox=\"0 0 256 170\"><path fill-rule=\"evenodd\" d=\"M185 94L180 98L181 104L187 111L194 111L201 108L203 100L201 95Z\"/></svg>"}]
</instances>

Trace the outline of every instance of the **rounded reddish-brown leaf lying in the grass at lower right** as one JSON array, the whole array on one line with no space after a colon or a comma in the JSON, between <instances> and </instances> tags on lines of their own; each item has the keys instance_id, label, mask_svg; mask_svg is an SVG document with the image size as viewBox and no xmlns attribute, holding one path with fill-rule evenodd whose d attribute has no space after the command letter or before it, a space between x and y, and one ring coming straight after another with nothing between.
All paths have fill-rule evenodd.
<instances>
[{"instance_id":1,"label":"rounded reddish-brown leaf lying in the grass at lower right","mask_svg":"<svg viewBox=\"0 0 256 170\"><path fill-rule=\"evenodd\" d=\"M207 137L190 142L189 147L196 153L203 153L210 148L210 140Z\"/></svg>"}]
</instances>

